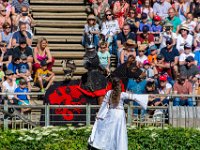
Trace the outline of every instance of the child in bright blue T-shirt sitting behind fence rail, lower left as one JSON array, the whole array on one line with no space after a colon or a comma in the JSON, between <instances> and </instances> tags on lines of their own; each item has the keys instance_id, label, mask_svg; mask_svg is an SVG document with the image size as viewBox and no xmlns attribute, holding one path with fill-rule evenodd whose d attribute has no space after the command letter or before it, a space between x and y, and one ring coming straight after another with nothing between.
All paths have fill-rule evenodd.
<instances>
[{"instance_id":1,"label":"child in bright blue T-shirt sitting behind fence rail, lower left","mask_svg":"<svg viewBox=\"0 0 200 150\"><path fill-rule=\"evenodd\" d=\"M19 81L19 87L15 89L15 93L28 93L30 91L30 86L27 88L27 82L24 79ZM30 105L30 95L15 95L15 99L18 101L18 105ZM27 112L30 108L22 108L21 112Z\"/></svg>"}]
</instances>

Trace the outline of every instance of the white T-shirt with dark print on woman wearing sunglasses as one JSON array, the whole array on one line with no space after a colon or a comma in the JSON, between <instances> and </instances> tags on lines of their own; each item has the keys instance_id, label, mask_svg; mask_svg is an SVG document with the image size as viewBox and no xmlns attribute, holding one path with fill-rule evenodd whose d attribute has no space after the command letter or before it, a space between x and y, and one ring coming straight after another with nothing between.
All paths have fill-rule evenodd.
<instances>
[{"instance_id":1,"label":"white T-shirt with dark print on woman wearing sunglasses","mask_svg":"<svg viewBox=\"0 0 200 150\"><path fill-rule=\"evenodd\" d=\"M120 31L119 24L117 20L105 21L102 23L101 33L103 35L115 35L117 31Z\"/></svg>"}]
</instances>

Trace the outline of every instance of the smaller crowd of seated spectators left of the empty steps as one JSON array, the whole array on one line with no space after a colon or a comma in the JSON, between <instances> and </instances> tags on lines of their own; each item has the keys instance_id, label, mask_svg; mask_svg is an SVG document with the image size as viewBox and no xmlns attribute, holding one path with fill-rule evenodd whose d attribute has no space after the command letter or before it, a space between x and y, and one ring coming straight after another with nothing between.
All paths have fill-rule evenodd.
<instances>
[{"instance_id":1,"label":"smaller crowd of seated spectators left of the empty steps","mask_svg":"<svg viewBox=\"0 0 200 150\"><path fill-rule=\"evenodd\" d=\"M27 0L0 0L1 91L16 93L7 96L9 104L29 105L30 96L17 93L30 92L31 81L45 92L55 78L47 39L38 39L32 47L34 26Z\"/></svg>"}]
</instances>

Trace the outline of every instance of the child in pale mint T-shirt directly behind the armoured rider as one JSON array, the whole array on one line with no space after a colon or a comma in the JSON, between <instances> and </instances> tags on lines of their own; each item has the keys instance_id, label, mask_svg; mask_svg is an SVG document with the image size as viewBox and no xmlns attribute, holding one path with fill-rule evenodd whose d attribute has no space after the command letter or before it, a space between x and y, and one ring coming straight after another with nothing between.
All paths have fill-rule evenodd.
<instances>
[{"instance_id":1,"label":"child in pale mint T-shirt directly behind the armoured rider","mask_svg":"<svg viewBox=\"0 0 200 150\"><path fill-rule=\"evenodd\" d=\"M105 42L100 43L100 48L97 53L100 61L100 65L106 70L107 74L110 73L110 53L107 50L107 44Z\"/></svg>"}]
</instances>

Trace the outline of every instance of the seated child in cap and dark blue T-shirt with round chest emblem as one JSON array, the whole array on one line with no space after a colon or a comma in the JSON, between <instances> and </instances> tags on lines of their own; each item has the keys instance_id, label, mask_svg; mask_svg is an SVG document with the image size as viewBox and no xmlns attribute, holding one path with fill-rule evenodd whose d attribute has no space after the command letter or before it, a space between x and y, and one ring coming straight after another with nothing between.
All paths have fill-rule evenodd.
<instances>
[{"instance_id":1,"label":"seated child in cap and dark blue T-shirt with round chest emblem","mask_svg":"<svg viewBox=\"0 0 200 150\"><path fill-rule=\"evenodd\" d=\"M27 63L27 56L22 54L20 57L20 63L17 65L16 74L18 78L24 78L27 82L32 81L31 73Z\"/></svg>"}]
</instances>

